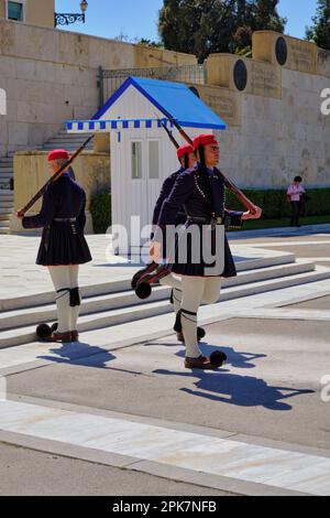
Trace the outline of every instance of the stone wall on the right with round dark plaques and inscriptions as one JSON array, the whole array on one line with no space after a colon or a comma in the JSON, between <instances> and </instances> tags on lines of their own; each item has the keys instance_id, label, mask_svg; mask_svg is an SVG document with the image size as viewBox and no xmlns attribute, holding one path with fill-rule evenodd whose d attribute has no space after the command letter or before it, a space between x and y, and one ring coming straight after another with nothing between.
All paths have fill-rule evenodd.
<instances>
[{"instance_id":1,"label":"stone wall on the right with round dark plaques and inscriptions","mask_svg":"<svg viewBox=\"0 0 330 518\"><path fill-rule=\"evenodd\" d=\"M215 54L207 67L212 86L195 86L228 123L217 134L232 180L279 188L299 174L310 187L330 186L330 116L320 110L329 52L263 31L253 35L252 60Z\"/></svg>"}]
</instances>

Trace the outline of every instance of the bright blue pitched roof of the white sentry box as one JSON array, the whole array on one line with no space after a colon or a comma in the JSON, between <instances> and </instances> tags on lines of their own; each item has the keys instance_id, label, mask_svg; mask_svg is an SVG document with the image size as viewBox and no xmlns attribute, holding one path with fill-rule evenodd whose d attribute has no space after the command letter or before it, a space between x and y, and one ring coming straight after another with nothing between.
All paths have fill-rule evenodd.
<instances>
[{"instance_id":1,"label":"bright blue pitched roof of the white sentry box","mask_svg":"<svg viewBox=\"0 0 330 518\"><path fill-rule=\"evenodd\" d=\"M92 119L102 117L130 86L136 88L165 117L175 119L183 127L215 130L227 128L226 122L186 85L141 77L129 77Z\"/></svg>"}]
</instances>

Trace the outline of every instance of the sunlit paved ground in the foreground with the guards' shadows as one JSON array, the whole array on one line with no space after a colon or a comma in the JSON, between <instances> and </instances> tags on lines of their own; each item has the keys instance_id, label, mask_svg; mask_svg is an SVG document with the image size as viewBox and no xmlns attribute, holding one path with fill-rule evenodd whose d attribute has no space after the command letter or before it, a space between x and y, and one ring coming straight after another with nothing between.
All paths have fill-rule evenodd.
<instances>
[{"instance_id":1,"label":"sunlit paved ground in the foreground with the guards' shadows","mask_svg":"<svg viewBox=\"0 0 330 518\"><path fill-rule=\"evenodd\" d=\"M0 350L0 494L330 495L329 300L327 280L202 307L215 373L184 369L173 315Z\"/></svg>"}]
</instances>

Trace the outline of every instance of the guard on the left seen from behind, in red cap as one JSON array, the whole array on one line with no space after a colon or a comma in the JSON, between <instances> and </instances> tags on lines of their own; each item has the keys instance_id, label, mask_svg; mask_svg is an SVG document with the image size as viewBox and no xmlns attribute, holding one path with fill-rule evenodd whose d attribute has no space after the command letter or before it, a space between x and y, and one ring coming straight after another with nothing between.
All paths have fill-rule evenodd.
<instances>
[{"instance_id":1,"label":"guard on the left seen from behind, in red cap","mask_svg":"<svg viewBox=\"0 0 330 518\"><path fill-rule=\"evenodd\" d=\"M56 175L68 161L67 151L52 151L48 154L50 173ZM64 171L58 180L47 185L40 214L22 217L25 209L18 214L24 228L43 228L36 263L50 270L56 290L58 316L58 324L52 330L47 325L38 326L38 336L47 342L78 341L77 322L81 305L78 271L79 265L91 261L84 236L86 194L68 170Z\"/></svg>"}]
</instances>

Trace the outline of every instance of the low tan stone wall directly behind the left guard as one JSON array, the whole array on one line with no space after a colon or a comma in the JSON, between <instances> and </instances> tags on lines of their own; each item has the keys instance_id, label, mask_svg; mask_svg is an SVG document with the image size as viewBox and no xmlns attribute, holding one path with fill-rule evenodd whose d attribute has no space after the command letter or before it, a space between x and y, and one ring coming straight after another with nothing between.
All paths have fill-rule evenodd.
<instances>
[{"instance_id":1,"label":"low tan stone wall directly behind the left guard","mask_svg":"<svg viewBox=\"0 0 330 518\"><path fill-rule=\"evenodd\" d=\"M84 187L87 197L87 228L88 234L92 234L92 223L89 213L91 195L106 186L109 188L110 179L110 155L100 152L82 152L73 165L77 182ZM47 171L47 153L45 152L18 152L14 155L14 209L22 208L29 199L50 179ZM29 213L37 214L42 201L37 202ZM11 230L16 231L16 219L11 219Z\"/></svg>"}]
</instances>

